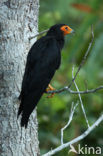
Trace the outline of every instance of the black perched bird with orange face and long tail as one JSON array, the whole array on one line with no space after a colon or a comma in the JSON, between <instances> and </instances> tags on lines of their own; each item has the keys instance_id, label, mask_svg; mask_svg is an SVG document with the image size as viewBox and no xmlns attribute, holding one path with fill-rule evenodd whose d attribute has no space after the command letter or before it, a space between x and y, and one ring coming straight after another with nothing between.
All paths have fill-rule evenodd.
<instances>
[{"instance_id":1,"label":"black perched bird with orange face and long tail","mask_svg":"<svg viewBox=\"0 0 103 156\"><path fill-rule=\"evenodd\" d=\"M31 47L19 96L18 116L22 115L21 126L27 127L30 114L60 66L64 36L72 32L68 25L56 24Z\"/></svg>"}]
</instances>

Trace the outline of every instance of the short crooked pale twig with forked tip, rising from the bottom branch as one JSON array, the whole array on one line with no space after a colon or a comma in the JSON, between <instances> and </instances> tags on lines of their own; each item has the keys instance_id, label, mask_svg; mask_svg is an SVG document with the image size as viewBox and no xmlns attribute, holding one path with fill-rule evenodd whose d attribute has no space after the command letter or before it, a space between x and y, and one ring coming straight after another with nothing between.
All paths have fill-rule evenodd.
<instances>
[{"instance_id":1,"label":"short crooked pale twig with forked tip, rising from the bottom branch","mask_svg":"<svg viewBox=\"0 0 103 156\"><path fill-rule=\"evenodd\" d=\"M69 115L69 120L67 122L67 124L61 129L61 145L63 144L63 134L64 134L64 130L70 125L72 119L73 119L73 115L74 115L74 111L76 109L76 107L78 106L78 103L75 104L72 102L72 107L71 107L71 113Z\"/></svg>"}]
</instances>

